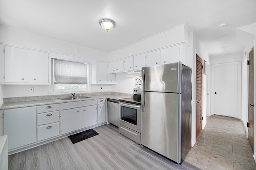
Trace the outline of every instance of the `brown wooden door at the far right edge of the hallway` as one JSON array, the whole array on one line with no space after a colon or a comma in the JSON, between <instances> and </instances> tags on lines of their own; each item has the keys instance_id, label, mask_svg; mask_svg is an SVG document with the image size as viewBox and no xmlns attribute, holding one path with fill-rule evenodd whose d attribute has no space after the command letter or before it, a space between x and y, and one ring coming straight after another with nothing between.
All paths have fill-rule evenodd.
<instances>
[{"instance_id":1,"label":"brown wooden door at the far right edge of the hallway","mask_svg":"<svg viewBox=\"0 0 256 170\"><path fill-rule=\"evenodd\" d=\"M253 48L252 51L249 53L249 94L248 94L248 139L250 142L250 145L252 147L252 150L254 149L254 73L253 73L253 67L254 67L254 54L253 54Z\"/></svg>"}]
</instances>

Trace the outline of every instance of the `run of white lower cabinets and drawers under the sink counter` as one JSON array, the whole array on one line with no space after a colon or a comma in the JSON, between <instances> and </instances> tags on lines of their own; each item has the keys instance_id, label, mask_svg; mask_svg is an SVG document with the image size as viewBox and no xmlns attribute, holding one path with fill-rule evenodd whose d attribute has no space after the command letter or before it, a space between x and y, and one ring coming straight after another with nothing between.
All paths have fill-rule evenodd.
<instances>
[{"instance_id":1,"label":"run of white lower cabinets and drawers under the sink counter","mask_svg":"<svg viewBox=\"0 0 256 170\"><path fill-rule=\"evenodd\" d=\"M70 132L106 122L106 98L6 109L8 152L30 148Z\"/></svg>"}]
</instances>

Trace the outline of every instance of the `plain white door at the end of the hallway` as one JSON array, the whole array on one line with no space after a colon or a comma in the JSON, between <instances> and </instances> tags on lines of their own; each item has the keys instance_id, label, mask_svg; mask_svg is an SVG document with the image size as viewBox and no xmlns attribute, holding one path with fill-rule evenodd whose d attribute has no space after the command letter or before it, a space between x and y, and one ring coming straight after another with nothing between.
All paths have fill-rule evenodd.
<instances>
[{"instance_id":1,"label":"plain white door at the end of the hallway","mask_svg":"<svg viewBox=\"0 0 256 170\"><path fill-rule=\"evenodd\" d=\"M241 63L213 64L213 114L241 118Z\"/></svg>"}]
</instances>

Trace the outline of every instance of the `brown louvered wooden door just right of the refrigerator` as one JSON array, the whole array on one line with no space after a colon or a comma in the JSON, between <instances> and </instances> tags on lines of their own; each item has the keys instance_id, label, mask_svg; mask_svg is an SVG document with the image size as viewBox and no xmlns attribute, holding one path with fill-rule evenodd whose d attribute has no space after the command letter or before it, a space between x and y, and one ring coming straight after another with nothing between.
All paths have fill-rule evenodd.
<instances>
[{"instance_id":1,"label":"brown louvered wooden door just right of the refrigerator","mask_svg":"<svg viewBox=\"0 0 256 170\"><path fill-rule=\"evenodd\" d=\"M196 55L196 137L202 130L202 59Z\"/></svg>"}]
</instances>

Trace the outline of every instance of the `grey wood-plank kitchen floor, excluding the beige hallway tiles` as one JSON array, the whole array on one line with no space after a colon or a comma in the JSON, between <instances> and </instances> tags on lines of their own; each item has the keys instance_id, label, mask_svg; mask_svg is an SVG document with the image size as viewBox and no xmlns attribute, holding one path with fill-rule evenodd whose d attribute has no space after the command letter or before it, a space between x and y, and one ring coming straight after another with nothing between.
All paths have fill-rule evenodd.
<instances>
[{"instance_id":1,"label":"grey wood-plank kitchen floor, excluding the beige hallway tiles","mask_svg":"<svg viewBox=\"0 0 256 170\"><path fill-rule=\"evenodd\" d=\"M118 133L112 125L99 135L72 144L68 137L8 156L9 170L198 170L152 152Z\"/></svg>"}]
</instances>

